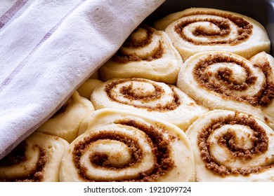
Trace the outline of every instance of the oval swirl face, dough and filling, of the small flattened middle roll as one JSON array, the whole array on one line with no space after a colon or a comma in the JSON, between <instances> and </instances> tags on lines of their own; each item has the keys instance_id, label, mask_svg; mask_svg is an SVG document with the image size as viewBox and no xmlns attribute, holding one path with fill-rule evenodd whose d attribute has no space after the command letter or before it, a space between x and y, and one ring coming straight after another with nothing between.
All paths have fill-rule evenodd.
<instances>
[{"instance_id":1,"label":"oval swirl face, dough and filling, of the small flattened middle roll","mask_svg":"<svg viewBox=\"0 0 274 196\"><path fill-rule=\"evenodd\" d=\"M171 111L181 104L169 85L141 78L114 80L105 86L105 93L113 102L148 111Z\"/></svg>"}]
</instances>

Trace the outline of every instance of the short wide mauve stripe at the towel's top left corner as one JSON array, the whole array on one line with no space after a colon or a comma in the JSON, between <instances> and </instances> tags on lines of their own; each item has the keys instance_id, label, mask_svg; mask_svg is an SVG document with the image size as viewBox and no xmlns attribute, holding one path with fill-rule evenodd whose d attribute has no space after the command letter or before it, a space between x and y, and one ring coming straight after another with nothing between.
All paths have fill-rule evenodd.
<instances>
[{"instance_id":1,"label":"short wide mauve stripe at the towel's top left corner","mask_svg":"<svg viewBox=\"0 0 274 196\"><path fill-rule=\"evenodd\" d=\"M22 8L22 6L25 6L25 3L27 3L27 1L29 0L16 1L16 3L14 3L14 5L11 6L11 8L9 8L6 13L4 13L4 15L0 17L0 29L4 27L4 25L6 25L6 23L8 23L11 18L13 18L13 16L18 12L18 10L20 10L20 8Z\"/></svg>"}]
</instances>

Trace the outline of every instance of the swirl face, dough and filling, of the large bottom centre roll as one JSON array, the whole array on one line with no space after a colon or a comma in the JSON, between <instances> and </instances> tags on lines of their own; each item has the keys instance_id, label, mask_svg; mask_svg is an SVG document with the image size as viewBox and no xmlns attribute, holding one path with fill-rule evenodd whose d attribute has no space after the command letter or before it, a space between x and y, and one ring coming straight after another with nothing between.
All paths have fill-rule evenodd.
<instances>
[{"instance_id":1,"label":"swirl face, dough and filling, of the large bottom centre roll","mask_svg":"<svg viewBox=\"0 0 274 196\"><path fill-rule=\"evenodd\" d=\"M117 130L89 134L74 146L74 166L84 181L155 181L174 167L169 139L135 120L117 120ZM88 169L89 168L89 169Z\"/></svg>"}]
</instances>

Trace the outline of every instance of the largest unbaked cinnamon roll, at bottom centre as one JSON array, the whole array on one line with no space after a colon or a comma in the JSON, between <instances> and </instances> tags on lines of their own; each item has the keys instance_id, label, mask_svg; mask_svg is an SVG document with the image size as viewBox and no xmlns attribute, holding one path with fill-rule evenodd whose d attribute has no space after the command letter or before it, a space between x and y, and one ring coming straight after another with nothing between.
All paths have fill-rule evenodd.
<instances>
[{"instance_id":1,"label":"largest unbaked cinnamon roll, at bottom centre","mask_svg":"<svg viewBox=\"0 0 274 196\"><path fill-rule=\"evenodd\" d=\"M60 181L194 181L190 141L175 125L119 109L93 112L60 167Z\"/></svg>"}]
</instances>

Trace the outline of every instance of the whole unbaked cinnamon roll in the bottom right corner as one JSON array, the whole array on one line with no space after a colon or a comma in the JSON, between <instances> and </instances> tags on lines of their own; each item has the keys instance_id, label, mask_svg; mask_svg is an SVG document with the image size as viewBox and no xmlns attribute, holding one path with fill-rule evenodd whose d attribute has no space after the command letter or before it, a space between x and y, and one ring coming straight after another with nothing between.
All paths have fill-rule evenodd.
<instances>
[{"instance_id":1,"label":"whole unbaked cinnamon roll in the bottom right corner","mask_svg":"<svg viewBox=\"0 0 274 196\"><path fill-rule=\"evenodd\" d=\"M274 181L274 132L254 116L210 111L185 133L197 181Z\"/></svg>"}]
</instances>

